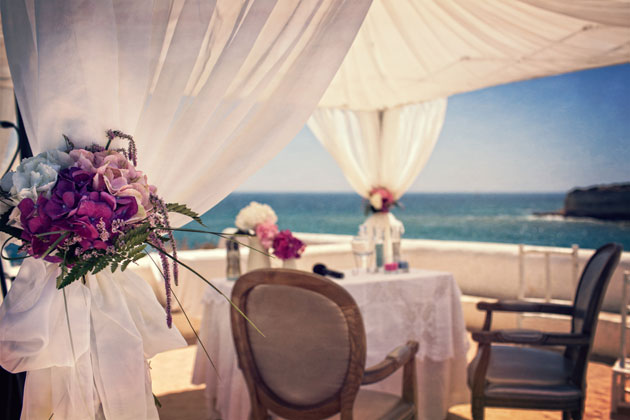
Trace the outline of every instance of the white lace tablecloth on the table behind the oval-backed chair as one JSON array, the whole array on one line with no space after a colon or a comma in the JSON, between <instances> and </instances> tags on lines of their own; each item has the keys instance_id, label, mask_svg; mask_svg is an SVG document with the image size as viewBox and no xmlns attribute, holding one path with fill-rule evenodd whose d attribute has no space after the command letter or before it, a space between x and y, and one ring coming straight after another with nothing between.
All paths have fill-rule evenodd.
<instances>
[{"instance_id":1,"label":"white lace tablecloth on the table behind the oval-backed chair","mask_svg":"<svg viewBox=\"0 0 630 420\"><path fill-rule=\"evenodd\" d=\"M215 279L226 295L233 282ZM412 270L404 274L346 272L339 281L359 305L367 334L367 365L380 362L409 339L420 343L417 355L420 419L443 419L448 408L469 400L466 387L468 340L461 292L450 273ZM224 420L247 419L249 396L238 369L230 329L229 304L213 290L204 293L200 337L214 361L215 371L201 347L197 349L193 383L206 384L210 409ZM378 384L400 395L402 370Z\"/></svg>"}]
</instances>

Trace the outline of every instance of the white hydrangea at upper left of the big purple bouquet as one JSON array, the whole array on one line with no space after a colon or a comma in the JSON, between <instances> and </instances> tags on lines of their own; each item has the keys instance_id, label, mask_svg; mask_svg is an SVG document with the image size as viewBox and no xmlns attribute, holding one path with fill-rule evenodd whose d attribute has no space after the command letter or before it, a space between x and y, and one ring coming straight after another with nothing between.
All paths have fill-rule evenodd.
<instances>
[{"instance_id":1,"label":"white hydrangea at upper left of the big purple bouquet","mask_svg":"<svg viewBox=\"0 0 630 420\"><path fill-rule=\"evenodd\" d=\"M8 198L0 200L0 214L25 198L37 201L39 195L49 195L57 182L57 173L73 164L70 155L59 150L24 159L15 171L7 173L0 181L2 191L9 194Z\"/></svg>"}]
</instances>

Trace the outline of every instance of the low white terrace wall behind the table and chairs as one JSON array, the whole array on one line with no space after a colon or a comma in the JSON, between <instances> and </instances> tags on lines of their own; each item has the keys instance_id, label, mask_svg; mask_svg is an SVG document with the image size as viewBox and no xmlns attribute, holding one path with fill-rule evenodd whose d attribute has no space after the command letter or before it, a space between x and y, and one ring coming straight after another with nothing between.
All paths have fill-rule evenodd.
<instances>
[{"instance_id":1,"label":"low white terrace wall behind the table and chairs","mask_svg":"<svg viewBox=\"0 0 630 420\"><path fill-rule=\"evenodd\" d=\"M298 269L312 270L316 263L324 263L333 269L349 269L354 267L349 236L342 235L317 235L300 234L307 243L306 251L298 260ZM322 242L330 242L324 243ZM545 249L546 247L538 247ZM547 247L548 248L548 247ZM549 248L552 249L552 248ZM593 250L579 250L579 272ZM242 267L247 261L247 249L241 249ZM456 242L405 239L402 242L403 258L409 261L411 267L433 270L449 271L455 276L462 293L465 295L462 301L466 325L470 329L481 327L483 313L476 310L476 302L482 299L514 299L518 290L518 245L494 244L481 242ZM195 250L179 253L182 261L190 264L207 279L222 277L225 275L225 250ZM154 284L156 294L160 299L164 294L161 280L153 278L150 269L152 264L146 258L134 268L150 283ZM281 262L272 259L273 267L280 267ZM552 291L554 299L571 300L575 293L573 285L572 265L570 256L553 256L550 260ZM623 271L630 270L630 253L622 255L619 267L617 267L604 300L604 310L610 312L602 314L598 326L594 350L602 355L616 357L619 347L619 308L621 304L621 286ZM185 272L185 269L181 269ZM527 256L525 262L525 280L528 297L543 297L545 294L544 259L540 255ZM192 276L185 275L182 286L193 289L184 293L188 304L196 306L192 300L200 300L205 285ZM182 295L182 293L180 293ZM180 296L181 297L181 296ZM194 310L198 313L199 311ZM497 328L514 328L515 317L511 315L498 315L493 324ZM566 319L558 317L533 317L527 318L523 326L536 329L566 330ZM630 339L628 340L630 343ZM630 347L630 346L629 346Z\"/></svg>"}]
</instances>

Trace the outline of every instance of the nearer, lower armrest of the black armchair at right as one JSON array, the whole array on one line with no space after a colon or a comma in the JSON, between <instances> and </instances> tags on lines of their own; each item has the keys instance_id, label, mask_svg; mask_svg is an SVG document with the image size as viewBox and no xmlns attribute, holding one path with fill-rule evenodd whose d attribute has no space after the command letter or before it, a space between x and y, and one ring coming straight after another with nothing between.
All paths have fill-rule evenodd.
<instances>
[{"instance_id":1,"label":"nearer, lower armrest of the black armchair at right","mask_svg":"<svg viewBox=\"0 0 630 420\"><path fill-rule=\"evenodd\" d=\"M511 343L531 346L585 346L590 338L584 334L545 333L535 330L479 331L472 334L479 344Z\"/></svg>"}]
</instances>

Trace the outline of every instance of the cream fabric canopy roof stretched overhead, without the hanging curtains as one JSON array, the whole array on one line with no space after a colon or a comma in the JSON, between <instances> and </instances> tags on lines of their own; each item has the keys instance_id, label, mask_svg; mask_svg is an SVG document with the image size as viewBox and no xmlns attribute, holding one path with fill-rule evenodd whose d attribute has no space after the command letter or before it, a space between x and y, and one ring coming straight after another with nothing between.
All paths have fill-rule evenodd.
<instances>
[{"instance_id":1,"label":"cream fabric canopy roof stretched overhead, without the hanging curtains","mask_svg":"<svg viewBox=\"0 0 630 420\"><path fill-rule=\"evenodd\" d=\"M379 0L319 105L385 109L627 62L628 0Z\"/></svg>"}]
</instances>

